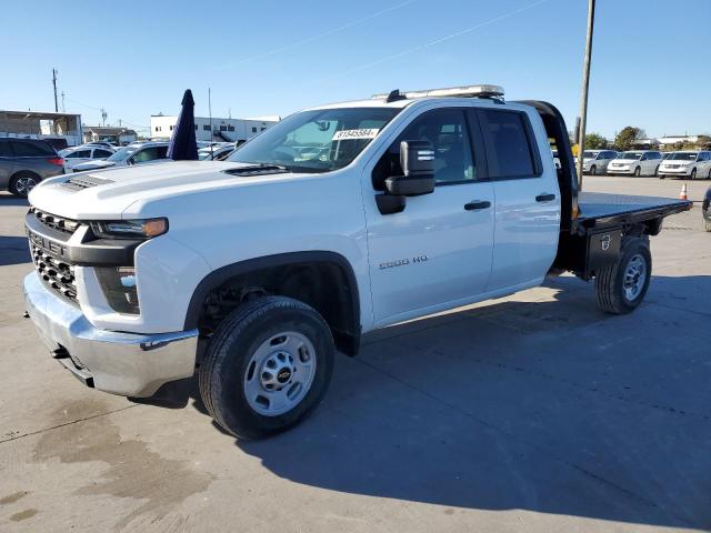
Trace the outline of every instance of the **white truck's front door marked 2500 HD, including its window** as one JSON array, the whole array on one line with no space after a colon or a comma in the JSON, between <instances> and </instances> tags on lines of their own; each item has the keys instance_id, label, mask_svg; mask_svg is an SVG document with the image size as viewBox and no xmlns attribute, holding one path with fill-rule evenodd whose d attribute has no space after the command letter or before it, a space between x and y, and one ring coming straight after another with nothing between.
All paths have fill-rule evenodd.
<instances>
[{"instance_id":1,"label":"white truck's front door marked 2500 HD, including its window","mask_svg":"<svg viewBox=\"0 0 711 533\"><path fill-rule=\"evenodd\" d=\"M402 212L381 214L374 197L385 177L402 172L403 140L432 143L437 185L431 194L407 198ZM483 293L491 273L494 198L491 183L477 180L464 111L440 108L415 117L380 158L372 181L364 205L375 325Z\"/></svg>"}]
</instances>

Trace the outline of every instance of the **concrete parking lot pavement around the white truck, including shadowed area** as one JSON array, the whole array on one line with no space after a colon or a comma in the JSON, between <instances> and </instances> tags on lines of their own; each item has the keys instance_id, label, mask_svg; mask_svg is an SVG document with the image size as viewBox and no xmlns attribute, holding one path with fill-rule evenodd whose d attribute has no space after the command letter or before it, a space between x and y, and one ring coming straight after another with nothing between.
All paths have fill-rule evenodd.
<instances>
[{"instance_id":1,"label":"concrete parking lot pavement around the white truck, including shadowed area","mask_svg":"<svg viewBox=\"0 0 711 533\"><path fill-rule=\"evenodd\" d=\"M679 181L585 178L677 197ZM708 182L690 183L701 200ZM27 203L0 193L0 531L598 532L711 527L711 234L652 239L632 315L544 288L390 328L337 358L296 430L236 442L192 380L84 389L21 318Z\"/></svg>"}]
</instances>

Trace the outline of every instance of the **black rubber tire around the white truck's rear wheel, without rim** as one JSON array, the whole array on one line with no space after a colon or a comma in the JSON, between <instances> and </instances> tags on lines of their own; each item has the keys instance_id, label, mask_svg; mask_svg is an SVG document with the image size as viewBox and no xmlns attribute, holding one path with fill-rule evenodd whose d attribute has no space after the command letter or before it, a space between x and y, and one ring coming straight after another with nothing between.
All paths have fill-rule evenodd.
<instances>
[{"instance_id":1,"label":"black rubber tire around the white truck's rear wheel, without rim","mask_svg":"<svg viewBox=\"0 0 711 533\"><path fill-rule=\"evenodd\" d=\"M640 292L633 299L629 299L624 289L624 278L631 261L633 259L638 261L637 258L640 258L645 265L644 278L641 280ZM628 240L622 247L620 261L595 273L598 308L611 314L631 313L644 300L651 276L652 255L649 249L649 238Z\"/></svg>"}]
</instances>

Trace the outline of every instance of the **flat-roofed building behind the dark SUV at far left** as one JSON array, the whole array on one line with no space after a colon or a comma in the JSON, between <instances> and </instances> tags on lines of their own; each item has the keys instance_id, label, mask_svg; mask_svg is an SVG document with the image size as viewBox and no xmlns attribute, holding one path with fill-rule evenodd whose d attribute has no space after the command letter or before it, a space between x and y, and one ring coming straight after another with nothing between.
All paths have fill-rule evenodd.
<instances>
[{"instance_id":1,"label":"flat-roofed building behind the dark SUV at far left","mask_svg":"<svg viewBox=\"0 0 711 533\"><path fill-rule=\"evenodd\" d=\"M81 115L42 111L0 111L0 135L47 139L58 148L82 142Z\"/></svg>"}]
</instances>

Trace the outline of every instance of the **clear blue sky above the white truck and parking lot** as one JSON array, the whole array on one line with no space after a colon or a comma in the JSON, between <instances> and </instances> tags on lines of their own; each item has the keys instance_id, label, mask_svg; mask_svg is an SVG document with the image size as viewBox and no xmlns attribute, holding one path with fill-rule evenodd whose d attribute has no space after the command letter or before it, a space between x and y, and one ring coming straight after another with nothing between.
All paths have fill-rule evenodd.
<instances>
[{"instance_id":1,"label":"clear blue sky above the white truck and parking lot","mask_svg":"<svg viewBox=\"0 0 711 533\"><path fill-rule=\"evenodd\" d=\"M103 107L108 123L146 127L151 114L177 113L186 88L197 114L207 115L211 87L214 117L254 117L395 88L485 82L509 99L554 103L572 128L587 4L7 2L0 109L53 110L56 67L67 111L89 124ZM710 133L710 52L711 0L598 0L588 131Z\"/></svg>"}]
</instances>

